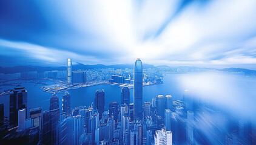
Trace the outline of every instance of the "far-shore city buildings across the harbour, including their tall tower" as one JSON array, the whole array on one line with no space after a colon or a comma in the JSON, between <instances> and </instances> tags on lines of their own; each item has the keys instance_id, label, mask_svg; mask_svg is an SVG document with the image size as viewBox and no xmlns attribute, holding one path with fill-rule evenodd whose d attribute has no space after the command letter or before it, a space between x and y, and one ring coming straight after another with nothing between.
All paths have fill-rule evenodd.
<instances>
[{"instance_id":1,"label":"far-shore city buildings across the harbour, including their tall tower","mask_svg":"<svg viewBox=\"0 0 256 145\"><path fill-rule=\"evenodd\" d=\"M161 82L162 74L157 68L143 69L143 82L154 85ZM72 60L67 59L67 69L65 71L28 71L13 74L0 74L0 80L33 80L33 79L53 79L64 80L73 85L85 84L90 82L109 82L133 84L133 69L113 69L98 68L87 70L73 70Z\"/></svg>"}]
</instances>

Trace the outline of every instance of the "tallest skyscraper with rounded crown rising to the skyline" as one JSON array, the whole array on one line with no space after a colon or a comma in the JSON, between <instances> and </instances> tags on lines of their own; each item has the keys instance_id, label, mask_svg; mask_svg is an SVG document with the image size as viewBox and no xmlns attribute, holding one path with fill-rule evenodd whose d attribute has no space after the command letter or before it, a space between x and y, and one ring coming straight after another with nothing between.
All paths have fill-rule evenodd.
<instances>
[{"instance_id":1,"label":"tallest skyscraper with rounded crown rising to the skyline","mask_svg":"<svg viewBox=\"0 0 256 145\"><path fill-rule=\"evenodd\" d=\"M134 65L134 84L133 84L134 118L143 118L143 65L140 59L136 59Z\"/></svg>"}]
</instances>

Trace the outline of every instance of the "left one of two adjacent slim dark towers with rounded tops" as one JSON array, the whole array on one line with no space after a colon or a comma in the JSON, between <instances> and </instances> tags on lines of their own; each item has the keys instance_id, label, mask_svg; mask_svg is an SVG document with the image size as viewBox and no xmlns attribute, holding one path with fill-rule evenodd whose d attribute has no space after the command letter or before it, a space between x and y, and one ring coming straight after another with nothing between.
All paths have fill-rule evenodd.
<instances>
[{"instance_id":1,"label":"left one of two adjacent slim dark towers with rounded tops","mask_svg":"<svg viewBox=\"0 0 256 145\"><path fill-rule=\"evenodd\" d=\"M56 144L56 127L59 122L59 98L54 93L50 98L50 144Z\"/></svg>"}]
</instances>

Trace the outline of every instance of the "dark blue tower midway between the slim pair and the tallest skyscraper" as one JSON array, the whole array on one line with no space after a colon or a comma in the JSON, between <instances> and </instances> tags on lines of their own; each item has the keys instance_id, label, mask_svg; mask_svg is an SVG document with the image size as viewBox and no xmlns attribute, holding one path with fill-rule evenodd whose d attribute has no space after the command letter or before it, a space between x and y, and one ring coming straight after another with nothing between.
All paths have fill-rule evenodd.
<instances>
[{"instance_id":1,"label":"dark blue tower midway between the slim pair and the tallest skyscraper","mask_svg":"<svg viewBox=\"0 0 256 145\"><path fill-rule=\"evenodd\" d=\"M103 112L105 108L105 92L103 89L98 89L96 91L94 103L95 103L95 109L98 109L99 120L100 120L103 116Z\"/></svg>"}]
</instances>

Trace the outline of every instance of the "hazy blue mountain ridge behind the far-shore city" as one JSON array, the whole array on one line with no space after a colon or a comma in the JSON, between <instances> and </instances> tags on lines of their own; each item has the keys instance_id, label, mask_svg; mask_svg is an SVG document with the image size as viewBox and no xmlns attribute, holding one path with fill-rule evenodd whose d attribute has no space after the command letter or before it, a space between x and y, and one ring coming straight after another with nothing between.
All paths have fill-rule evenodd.
<instances>
[{"instance_id":1,"label":"hazy blue mountain ridge behind the far-shore city","mask_svg":"<svg viewBox=\"0 0 256 145\"><path fill-rule=\"evenodd\" d=\"M133 65L84 65L83 63L76 63L75 65L72 65L73 70L78 69L98 69L98 68L114 68L114 69L124 69L124 68L130 68L133 69ZM155 68L153 65L147 65L143 64L143 68ZM61 67L42 67L42 66L13 66L13 67L0 67L0 73L3 74L12 74L16 72L26 72L26 71L38 71L38 72L44 72L44 71L65 71L67 68L65 66Z\"/></svg>"}]
</instances>

